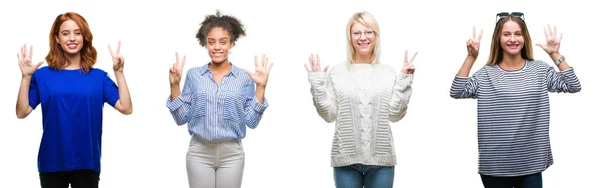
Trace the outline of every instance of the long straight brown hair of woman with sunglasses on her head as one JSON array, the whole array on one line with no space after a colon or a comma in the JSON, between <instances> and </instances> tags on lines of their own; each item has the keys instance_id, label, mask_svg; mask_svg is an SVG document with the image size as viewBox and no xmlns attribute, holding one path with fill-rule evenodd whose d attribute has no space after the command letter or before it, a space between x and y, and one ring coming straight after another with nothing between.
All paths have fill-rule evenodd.
<instances>
[{"instance_id":1,"label":"long straight brown hair of woman with sunglasses on her head","mask_svg":"<svg viewBox=\"0 0 600 188\"><path fill-rule=\"evenodd\" d=\"M526 60L533 60L533 45L531 43L531 36L529 35L529 30L527 29L525 21L517 16L508 15L506 18L502 18L496 23L494 35L492 36L492 44L490 46L490 57L488 58L486 65L496 65L502 61L504 51L502 50L500 36L502 33L502 27L508 21L514 21L519 24L519 27L521 27L521 32L523 33L525 43L521 49L521 57Z\"/></svg>"}]
</instances>

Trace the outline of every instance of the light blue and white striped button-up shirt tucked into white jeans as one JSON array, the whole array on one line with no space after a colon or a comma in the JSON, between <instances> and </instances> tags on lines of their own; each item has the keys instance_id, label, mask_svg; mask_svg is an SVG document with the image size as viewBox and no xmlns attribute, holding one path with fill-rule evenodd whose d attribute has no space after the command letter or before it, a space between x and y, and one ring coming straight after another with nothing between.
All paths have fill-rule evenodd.
<instances>
[{"instance_id":1,"label":"light blue and white striped button-up shirt tucked into white jeans","mask_svg":"<svg viewBox=\"0 0 600 188\"><path fill-rule=\"evenodd\" d=\"M268 107L255 96L254 81L231 65L231 71L217 85L208 64L188 70L183 91L167 107L177 125L188 124L190 135L208 141L239 140L246 136L246 126L254 129Z\"/></svg>"}]
</instances>

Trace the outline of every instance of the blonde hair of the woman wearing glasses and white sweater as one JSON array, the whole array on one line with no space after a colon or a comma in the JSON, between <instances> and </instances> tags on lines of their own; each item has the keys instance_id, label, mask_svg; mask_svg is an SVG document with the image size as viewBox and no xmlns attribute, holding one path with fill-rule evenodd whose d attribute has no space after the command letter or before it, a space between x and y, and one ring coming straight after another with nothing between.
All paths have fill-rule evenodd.
<instances>
[{"instance_id":1,"label":"blonde hair of the woman wearing glasses and white sweater","mask_svg":"<svg viewBox=\"0 0 600 188\"><path fill-rule=\"evenodd\" d=\"M369 63L371 64L375 64L379 62L379 54L380 54L380 50L379 50L379 24L377 24L377 20L375 20L375 17L373 17L373 15L371 15L368 12L357 12L354 15L352 15L352 17L350 17L350 20L348 20L348 24L346 25L346 39L348 41L346 49L347 49L347 61L348 64L354 64L355 59L356 59L356 49L354 48L354 45L352 44L352 26L355 24L355 22L361 23L363 25L365 25L366 27L372 29L375 33L375 41L373 41L374 47L373 47L373 51L371 51L371 57L369 58Z\"/></svg>"}]
</instances>

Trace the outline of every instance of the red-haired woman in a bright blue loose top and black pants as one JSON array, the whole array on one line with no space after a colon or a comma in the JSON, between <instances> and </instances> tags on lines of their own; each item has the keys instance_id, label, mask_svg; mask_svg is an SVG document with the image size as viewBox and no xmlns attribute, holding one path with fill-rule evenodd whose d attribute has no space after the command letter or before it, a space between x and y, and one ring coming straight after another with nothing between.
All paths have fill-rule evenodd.
<instances>
[{"instance_id":1,"label":"red-haired woman in a bright blue loose top and black pants","mask_svg":"<svg viewBox=\"0 0 600 188\"><path fill-rule=\"evenodd\" d=\"M50 51L43 62L32 63L32 50L17 54L22 78L17 98L19 119L42 105L43 135L38 154L41 187L98 187L104 103L122 114L133 108L123 74L124 59L109 48L117 84L108 73L93 68L96 49L87 21L67 12L56 17L50 30ZM39 68L39 69L38 69Z\"/></svg>"}]
</instances>

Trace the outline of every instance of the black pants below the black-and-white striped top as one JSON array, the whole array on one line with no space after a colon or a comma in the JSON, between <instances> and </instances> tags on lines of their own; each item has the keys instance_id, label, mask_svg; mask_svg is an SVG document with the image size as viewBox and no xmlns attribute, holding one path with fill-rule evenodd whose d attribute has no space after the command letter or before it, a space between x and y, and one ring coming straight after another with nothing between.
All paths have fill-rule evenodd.
<instances>
[{"instance_id":1,"label":"black pants below the black-and-white striped top","mask_svg":"<svg viewBox=\"0 0 600 188\"><path fill-rule=\"evenodd\" d=\"M481 175L485 188L542 188L542 173L516 177Z\"/></svg>"}]
</instances>

